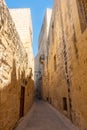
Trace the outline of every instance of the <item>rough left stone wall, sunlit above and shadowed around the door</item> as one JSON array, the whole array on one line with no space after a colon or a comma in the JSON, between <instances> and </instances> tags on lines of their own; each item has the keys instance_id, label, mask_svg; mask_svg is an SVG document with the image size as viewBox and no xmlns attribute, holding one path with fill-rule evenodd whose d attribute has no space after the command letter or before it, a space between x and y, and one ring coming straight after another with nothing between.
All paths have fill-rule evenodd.
<instances>
[{"instance_id":1,"label":"rough left stone wall, sunlit above and shadowed around the door","mask_svg":"<svg viewBox=\"0 0 87 130\"><path fill-rule=\"evenodd\" d=\"M32 29L29 35L31 32ZM33 103L33 62L32 67L29 62L28 51L10 12L0 1L0 130L12 130Z\"/></svg>"}]
</instances>

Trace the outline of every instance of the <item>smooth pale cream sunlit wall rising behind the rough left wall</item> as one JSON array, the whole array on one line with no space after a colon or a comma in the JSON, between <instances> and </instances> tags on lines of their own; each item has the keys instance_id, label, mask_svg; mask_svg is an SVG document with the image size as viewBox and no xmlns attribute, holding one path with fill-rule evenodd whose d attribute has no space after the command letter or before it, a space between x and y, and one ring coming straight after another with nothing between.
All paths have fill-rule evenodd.
<instances>
[{"instance_id":1,"label":"smooth pale cream sunlit wall rising behind the rough left wall","mask_svg":"<svg viewBox=\"0 0 87 130\"><path fill-rule=\"evenodd\" d=\"M32 79L34 79L34 55L32 45L32 21L29 8L10 9L10 14L15 23L18 34L28 55L28 66L32 68Z\"/></svg>"}]
</instances>

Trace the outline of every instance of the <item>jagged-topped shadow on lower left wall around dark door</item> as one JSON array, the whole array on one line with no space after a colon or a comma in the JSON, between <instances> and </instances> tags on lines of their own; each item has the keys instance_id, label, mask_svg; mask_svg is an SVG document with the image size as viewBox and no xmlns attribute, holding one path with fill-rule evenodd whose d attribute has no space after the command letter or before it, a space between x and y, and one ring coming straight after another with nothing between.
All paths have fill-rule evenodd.
<instances>
[{"instance_id":1,"label":"jagged-topped shadow on lower left wall around dark door","mask_svg":"<svg viewBox=\"0 0 87 130\"><path fill-rule=\"evenodd\" d=\"M12 130L33 103L34 81L25 77L25 70L18 77L13 60L11 82L0 90L0 130Z\"/></svg>"}]
</instances>

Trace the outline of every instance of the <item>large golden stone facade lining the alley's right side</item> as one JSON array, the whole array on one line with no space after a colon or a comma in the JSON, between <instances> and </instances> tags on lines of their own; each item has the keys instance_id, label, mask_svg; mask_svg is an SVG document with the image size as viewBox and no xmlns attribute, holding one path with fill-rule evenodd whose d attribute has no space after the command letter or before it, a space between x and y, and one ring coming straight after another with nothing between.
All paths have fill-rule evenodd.
<instances>
[{"instance_id":1,"label":"large golden stone facade lining the alley's right side","mask_svg":"<svg viewBox=\"0 0 87 130\"><path fill-rule=\"evenodd\" d=\"M48 81L47 87L43 86L43 98L80 130L87 129L86 5L86 0L54 1L47 72L43 72L48 79L43 80L43 85ZM44 64L45 61L43 70Z\"/></svg>"}]
</instances>

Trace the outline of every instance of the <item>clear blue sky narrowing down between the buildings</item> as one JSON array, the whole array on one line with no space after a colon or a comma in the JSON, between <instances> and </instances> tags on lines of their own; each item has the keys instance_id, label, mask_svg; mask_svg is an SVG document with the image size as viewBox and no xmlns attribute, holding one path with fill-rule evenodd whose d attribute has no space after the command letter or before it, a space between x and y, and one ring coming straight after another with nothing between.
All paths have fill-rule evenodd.
<instances>
[{"instance_id":1,"label":"clear blue sky narrowing down between the buildings","mask_svg":"<svg viewBox=\"0 0 87 130\"><path fill-rule=\"evenodd\" d=\"M6 0L9 8L31 8L33 24L33 52L38 51L38 37L46 8L52 8L53 0Z\"/></svg>"}]
</instances>

